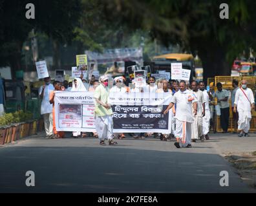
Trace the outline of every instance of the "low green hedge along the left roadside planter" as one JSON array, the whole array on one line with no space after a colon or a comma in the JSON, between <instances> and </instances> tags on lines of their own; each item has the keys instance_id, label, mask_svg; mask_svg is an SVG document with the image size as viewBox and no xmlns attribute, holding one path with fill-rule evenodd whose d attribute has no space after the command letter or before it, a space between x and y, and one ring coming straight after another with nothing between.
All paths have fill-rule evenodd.
<instances>
[{"instance_id":1,"label":"low green hedge along the left roadside planter","mask_svg":"<svg viewBox=\"0 0 256 206\"><path fill-rule=\"evenodd\" d=\"M26 122L32 120L33 114L30 112L24 112L22 110L16 111L15 113L5 113L0 117L0 126L6 126L10 124L15 124L19 122Z\"/></svg>"}]
</instances>

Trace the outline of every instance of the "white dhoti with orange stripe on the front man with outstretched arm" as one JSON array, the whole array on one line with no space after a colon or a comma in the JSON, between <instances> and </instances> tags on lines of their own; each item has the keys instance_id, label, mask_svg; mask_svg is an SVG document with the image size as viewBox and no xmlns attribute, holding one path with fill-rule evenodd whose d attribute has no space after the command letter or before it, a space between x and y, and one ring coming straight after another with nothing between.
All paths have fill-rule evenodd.
<instances>
[{"instance_id":1,"label":"white dhoti with orange stripe on the front man with outstretched arm","mask_svg":"<svg viewBox=\"0 0 256 206\"><path fill-rule=\"evenodd\" d=\"M175 137L180 139L180 147L191 144L191 123L176 119Z\"/></svg>"}]
</instances>

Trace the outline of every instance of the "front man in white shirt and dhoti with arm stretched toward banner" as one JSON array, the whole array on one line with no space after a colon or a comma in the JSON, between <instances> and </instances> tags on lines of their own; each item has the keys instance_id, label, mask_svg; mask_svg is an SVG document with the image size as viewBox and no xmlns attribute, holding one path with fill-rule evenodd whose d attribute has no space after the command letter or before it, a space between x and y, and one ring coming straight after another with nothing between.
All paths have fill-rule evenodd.
<instances>
[{"instance_id":1,"label":"front man in white shirt and dhoti with arm stretched toward banner","mask_svg":"<svg viewBox=\"0 0 256 206\"><path fill-rule=\"evenodd\" d=\"M197 99L191 91L186 89L186 82L184 80L181 80L179 85L180 90L173 95L171 103L164 111L164 115L176 104L175 137L177 142L175 142L175 146L177 148L191 147L191 124L194 122L192 104L194 115L197 115Z\"/></svg>"}]
</instances>

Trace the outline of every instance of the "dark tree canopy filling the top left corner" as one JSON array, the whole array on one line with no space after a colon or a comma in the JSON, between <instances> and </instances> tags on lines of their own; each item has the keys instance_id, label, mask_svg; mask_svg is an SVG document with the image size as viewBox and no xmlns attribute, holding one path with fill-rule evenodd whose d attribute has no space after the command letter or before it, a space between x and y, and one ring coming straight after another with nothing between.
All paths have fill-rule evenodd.
<instances>
[{"instance_id":1,"label":"dark tree canopy filling the top left corner","mask_svg":"<svg viewBox=\"0 0 256 206\"><path fill-rule=\"evenodd\" d=\"M27 19L25 6L33 3L36 19ZM0 65L10 66L12 77L21 70L21 50L28 33L34 29L43 32L54 41L55 55L58 61L59 43L71 42L76 33L81 14L80 0L55 1L0 1ZM55 64L58 64L57 62Z\"/></svg>"}]
</instances>

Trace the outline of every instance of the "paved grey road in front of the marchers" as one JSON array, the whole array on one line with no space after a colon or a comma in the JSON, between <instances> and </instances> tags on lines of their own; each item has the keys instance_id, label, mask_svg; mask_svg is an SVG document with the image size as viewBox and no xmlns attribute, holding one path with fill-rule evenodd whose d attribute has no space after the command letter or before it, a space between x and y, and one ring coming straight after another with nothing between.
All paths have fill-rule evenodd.
<instances>
[{"instance_id":1,"label":"paved grey road in front of the marchers","mask_svg":"<svg viewBox=\"0 0 256 206\"><path fill-rule=\"evenodd\" d=\"M227 139L176 149L156 139L100 146L94 138L33 136L0 147L0 192L255 192L219 155ZM36 187L25 185L27 171ZM220 171L228 171L229 187L220 187Z\"/></svg>"}]
</instances>

